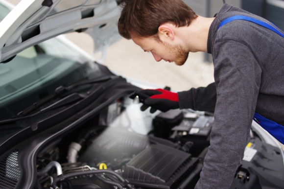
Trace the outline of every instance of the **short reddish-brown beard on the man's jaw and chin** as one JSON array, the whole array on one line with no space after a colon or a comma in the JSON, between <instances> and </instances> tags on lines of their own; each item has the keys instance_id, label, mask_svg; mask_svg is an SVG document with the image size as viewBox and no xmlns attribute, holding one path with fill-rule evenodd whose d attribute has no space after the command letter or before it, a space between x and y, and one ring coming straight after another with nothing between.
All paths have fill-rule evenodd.
<instances>
[{"instance_id":1,"label":"short reddish-brown beard on the man's jaw and chin","mask_svg":"<svg viewBox=\"0 0 284 189\"><path fill-rule=\"evenodd\" d=\"M182 66L185 64L185 62L187 61L189 57L188 50L184 49L181 45L170 46L166 42L164 42L163 44L165 45L167 50L171 52L172 54L174 54L174 56L176 57L175 60L173 60L176 65Z\"/></svg>"}]
</instances>

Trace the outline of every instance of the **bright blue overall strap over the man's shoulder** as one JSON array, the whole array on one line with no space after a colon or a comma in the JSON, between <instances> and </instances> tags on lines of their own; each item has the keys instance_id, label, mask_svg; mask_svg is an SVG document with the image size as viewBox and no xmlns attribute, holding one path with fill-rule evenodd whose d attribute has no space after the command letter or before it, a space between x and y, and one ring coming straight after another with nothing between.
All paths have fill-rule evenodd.
<instances>
[{"instance_id":1,"label":"bright blue overall strap over the man's shoulder","mask_svg":"<svg viewBox=\"0 0 284 189\"><path fill-rule=\"evenodd\" d=\"M280 30L278 27L276 27L276 25L273 24L273 25L274 25L274 27L273 27L272 25L267 24L267 23L265 23L265 22L263 22L263 21L260 21L260 20L257 20L257 19L251 18L251 17L247 17L247 16L242 16L242 15L232 16L232 17L229 17L229 18L223 20L223 21L219 24L218 29L219 29L222 25L225 25L225 24L227 24L227 23L229 23L229 22L231 22L231 21L235 21L235 20L245 20L245 21L253 22L253 23L255 23L255 24L258 24L258 25L261 25L261 26L263 26L263 27L266 27L266 28L268 28L268 29L274 31L274 32L277 33L278 35L284 37L284 34L280 32L281 30ZM271 24L272 24L272 23L271 23ZM280 31L279 31L279 30L280 30Z\"/></svg>"}]
</instances>

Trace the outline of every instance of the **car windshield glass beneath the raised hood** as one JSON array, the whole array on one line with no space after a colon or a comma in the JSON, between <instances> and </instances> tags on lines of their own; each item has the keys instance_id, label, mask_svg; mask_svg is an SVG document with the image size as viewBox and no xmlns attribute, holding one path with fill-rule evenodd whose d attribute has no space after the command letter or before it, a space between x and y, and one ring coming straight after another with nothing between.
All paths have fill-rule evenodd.
<instances>
[{"instance_id":1,"label":"car windshield glass beneath the raised hood","mask_svg":"<svg viewBox=\"0 0 284 189\"><path fill-rule=\"evenodd\" d=\"M0 4L0 19L9 9ZM16 117L33 103L63 85L99 71L91 60L66 42L52 38L18 53L0 64L0 119Z\"/></svg>"}]
</instances>

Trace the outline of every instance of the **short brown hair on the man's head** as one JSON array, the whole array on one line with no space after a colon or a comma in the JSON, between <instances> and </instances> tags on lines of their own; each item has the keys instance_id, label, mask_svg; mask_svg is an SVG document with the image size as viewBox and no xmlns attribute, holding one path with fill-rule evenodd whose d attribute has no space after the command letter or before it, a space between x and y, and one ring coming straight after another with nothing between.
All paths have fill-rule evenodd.
<instances>
[{"instance_id":1,"label":"short brown hair on the man's head","mask_svg":"<svg viewBox=\"0 0 284 189\"><path fill-rule=\"evenodd\" d=\"M197 17L182 0L125 0L118 20L118 32L126 38L158 38L161 24L172 23L177 27L189 26Z\"/></svg>"}]
</instances>

